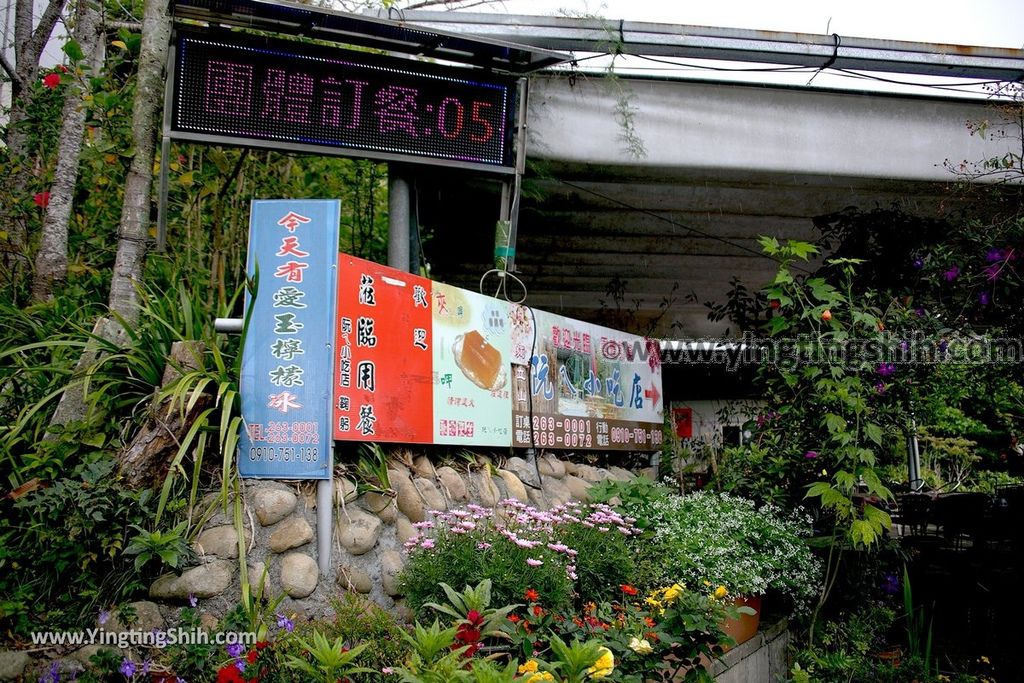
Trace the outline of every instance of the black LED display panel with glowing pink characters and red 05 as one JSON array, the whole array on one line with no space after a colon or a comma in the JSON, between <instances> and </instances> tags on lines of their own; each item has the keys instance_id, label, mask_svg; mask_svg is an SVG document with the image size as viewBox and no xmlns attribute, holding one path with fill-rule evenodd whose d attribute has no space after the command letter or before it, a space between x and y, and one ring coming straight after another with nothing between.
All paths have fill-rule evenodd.
<instances>
[{"instance_id":1,"label":"black LED display panel with glowing pink characters and red 05","mask_svg":"<svg viewBox=\"0 0 1024 683\"><path fill-rule=\"evenodd\" d=\"M190 138L513 166L511 79L238 33L175 46L171 129Z\"/></svg>"}]
</instances>

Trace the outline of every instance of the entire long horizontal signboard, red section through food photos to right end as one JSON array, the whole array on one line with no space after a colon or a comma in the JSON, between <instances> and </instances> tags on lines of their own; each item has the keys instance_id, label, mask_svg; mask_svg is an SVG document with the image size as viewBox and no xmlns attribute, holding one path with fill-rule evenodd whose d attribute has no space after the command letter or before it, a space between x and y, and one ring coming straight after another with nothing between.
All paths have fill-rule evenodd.
<instances>
[{"instance_id":1,"label":"entire long horizontal signboard, red section through food photos to right end","mask_svg":"<svg viewBox=\"0 0 1024 683\"><path fill-rule=\"evenodd\" d=\"M344 254L337 301L337 440L660 447L659 356L643 337Z\"/></svg>"}]
</instances>

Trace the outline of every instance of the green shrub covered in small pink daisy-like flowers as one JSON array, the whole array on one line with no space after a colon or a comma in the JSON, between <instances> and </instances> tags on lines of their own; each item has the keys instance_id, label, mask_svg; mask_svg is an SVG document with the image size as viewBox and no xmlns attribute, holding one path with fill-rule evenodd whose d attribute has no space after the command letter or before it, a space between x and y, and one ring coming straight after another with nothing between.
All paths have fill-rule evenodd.
<instances>
[{"instance_id":1,"label":"green shrub covered in small pink daisy-like flowers","mask_svg":"<svg viewBox=\"0 0 1024 683\"><path fill-rule=\"evenodd\" d=\"M489 579L496 604L514 604L527 589L554 606L596 600L631 580L628 539L635 520L606 505L567 503L542 512L515 500L497 510L470 505L420 522L407 544L410 561L401 575L408 603L420 610L443 602L445 582L459 590Z\"/></svg>"}]
</instances>

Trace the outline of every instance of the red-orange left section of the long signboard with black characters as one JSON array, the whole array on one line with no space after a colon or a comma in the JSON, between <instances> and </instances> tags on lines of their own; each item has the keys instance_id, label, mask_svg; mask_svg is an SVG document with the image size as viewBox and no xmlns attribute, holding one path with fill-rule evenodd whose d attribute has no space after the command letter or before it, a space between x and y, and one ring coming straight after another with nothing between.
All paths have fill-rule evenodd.
<instances>
[{"instance_id":1,"label":"red-orange left section of the long signboard with black characters","mask_svg":"<svg viewBox=\"0 0 1024 683\"><path fill-rule=\"evenodd\" d=\"M431 282L338 257L334 438L433 441Z\"/></svg>"}]
</instances>

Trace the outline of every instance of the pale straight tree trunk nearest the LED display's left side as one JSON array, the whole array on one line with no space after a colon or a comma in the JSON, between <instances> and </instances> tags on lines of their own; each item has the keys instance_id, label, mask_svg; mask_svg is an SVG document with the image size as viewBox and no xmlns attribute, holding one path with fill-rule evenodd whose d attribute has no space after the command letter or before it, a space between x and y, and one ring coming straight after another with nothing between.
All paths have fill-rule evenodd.
<instances>
[{"instance_id":1,"label":"pale straight tree trunk nearest the LED display's left side","mask_svg":"<svg viewBox=\"0 0 1024 683\"><path fill-rule=\"evenodd\" d=\"M138 84L132 109L132 142L135 156L125 180L125 199L118 229L118 254L111 280L109 306L125 323L138 319L136 285L142 280L142 265L148 247L150 191L153 186L153 158L157 142L157 114L164 101L164 66L171 39L167 0L146 0L142 15L142 45L139 51ZM167 163L167 160L161 160Z\"/></svg>"}]
</instances>

